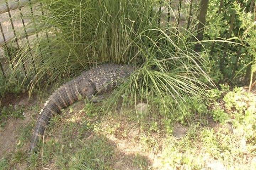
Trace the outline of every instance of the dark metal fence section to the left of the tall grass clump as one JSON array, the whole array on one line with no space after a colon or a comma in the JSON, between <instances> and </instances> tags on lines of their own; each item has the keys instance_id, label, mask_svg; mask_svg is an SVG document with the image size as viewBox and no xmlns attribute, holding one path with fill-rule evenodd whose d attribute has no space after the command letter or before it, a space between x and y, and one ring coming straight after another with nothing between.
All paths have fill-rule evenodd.
<instances>
[{"instance_id":1,"label":"dark metal fence section to the left of the tall grass clump","mask_svg":"<svg viewBox=\"0 0 256 170\"><path fill-rule=\"evenodd\" d=\"M31 18L34 18L35 13L37 15L42 13L39 10L40 4L36 2L35 0L0 0L0 69L4 78L6 78L8 68L14 68L9 44L12 44L17 51L26 46L28 53L33 56L31 42L38 38L37 26L34 23L34 28L27 28L27 24L31 22ZM25 62L21 62L27 74ZM33 57L31 64L35 67Z\"/></svg>"}]
</instances>

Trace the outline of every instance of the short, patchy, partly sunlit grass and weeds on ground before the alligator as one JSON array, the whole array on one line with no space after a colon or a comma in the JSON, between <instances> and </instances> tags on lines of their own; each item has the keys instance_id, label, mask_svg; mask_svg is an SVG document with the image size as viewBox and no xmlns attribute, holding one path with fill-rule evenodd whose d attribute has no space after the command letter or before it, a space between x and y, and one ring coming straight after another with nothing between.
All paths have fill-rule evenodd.
<instances>
[{"instance_id":1,"label":"short, patchy, partly sunlit grass and weeds on ground before the alligator","mask_svg":"<svg viewBox=\"0 0 256 170\"><path fill-rule=\"evenodd\" d=\"M26 162L31 170L42 167L103 170L113 169L116 162L133 168L163 170L255 167L254 97L240 90L229 93L227 89L224 87L220 90L221 96L236 96L236 100L232 99L234 104L228 110L225 107L227 101L216 98L219 112L215 113L213 119L218 118L217 122L211 120L211 113L217 111L213 107L217 106L215 101L202 102L202 99L194 97L186 99L188 111L195 116L190 117L186 125L188 131L180 138L172 136L178 119L157 114L160 104L155 104L155 109L151 109L152 117L147 116L143 121L138 121L133 108L121 113L100 114L102 116L99 117L92 114L99 112L103 104L87 104L82 112L77 106L67 108L64 112L72 113L64 113L50 122L45 140L40 141L37 153L27 155L22 150L32 128L27 125L18 137L17 143L20 144L16 146L15 153L5 157L1 164L3 167L15 167ZM247 104L243 109L236 109L236 103L240 100ZM206 108L212 111L205 113ZM175 109L180 108L177 106ZM220 113L223 111L229 115L228 123L222 121L223 115ZM136 131L134 136L131 131ZM120 151L119 147L122 148ZM154 159L151 159L152 155Z\"/></svg>"}]
</instances>

